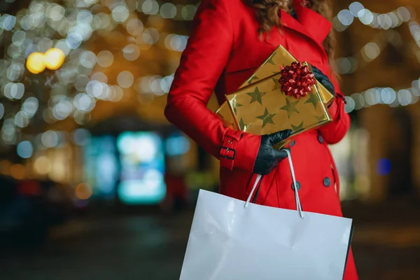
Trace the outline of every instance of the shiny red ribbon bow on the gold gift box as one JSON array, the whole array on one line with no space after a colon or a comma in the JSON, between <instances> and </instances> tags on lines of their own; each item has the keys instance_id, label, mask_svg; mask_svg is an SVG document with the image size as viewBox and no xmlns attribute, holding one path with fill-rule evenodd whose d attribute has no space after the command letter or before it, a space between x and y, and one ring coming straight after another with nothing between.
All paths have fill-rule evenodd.
<instances>
[{"instance_id":1,"label":"shiny red ribbon bow on the gold gift box","mask_svg":"<svg viewBox=\"0 0 420 280\"><path fill-rule=\"evenodd\" d=\"M296 99L307 96L311 92L311 86L316 84L315 75L309 70L309 66L302 66L300 62L293 62L292 65L284 67L280 73L281 91Z\"/></svg>"}]
</instances>

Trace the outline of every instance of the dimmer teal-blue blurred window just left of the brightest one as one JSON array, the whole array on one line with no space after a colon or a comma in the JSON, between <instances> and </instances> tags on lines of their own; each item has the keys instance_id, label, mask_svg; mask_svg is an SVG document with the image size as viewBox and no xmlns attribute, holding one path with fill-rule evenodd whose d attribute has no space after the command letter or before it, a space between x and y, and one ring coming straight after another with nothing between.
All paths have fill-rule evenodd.
<instances>
[{"instance_id":1,"label":"dimmer teal-blue blurred window just left of the brightest one","mask_svg":"<svg viewBox=\"0 0 420 280\"><path fill-rule=\"evenodd\" d=\"M92 137L85 146L85 177L92 186L92 197L113 199L118 181L116 139L111 136Z\"/></svg>"}]
</instances>

